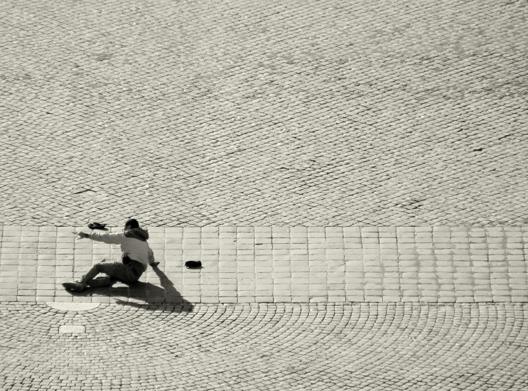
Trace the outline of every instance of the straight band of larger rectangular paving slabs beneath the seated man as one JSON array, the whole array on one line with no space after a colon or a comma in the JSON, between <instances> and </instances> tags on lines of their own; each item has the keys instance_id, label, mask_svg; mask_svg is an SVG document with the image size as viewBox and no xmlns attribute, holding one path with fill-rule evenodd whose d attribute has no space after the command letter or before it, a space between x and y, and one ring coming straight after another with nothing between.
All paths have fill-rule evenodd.
<instances>
[{"instance_id":1,"label":"straight band of larger rectangular paving slabs beneath the seated man","mask_svg":"<svg viewBox=\"0 0 528 391\"><path fill-rule=\"evenodd\" d=\"M0 301L528 301L527 226L153 227L159 269L140 284L72 294L63 282L121 255L75 240L79 229L3 227ZM186 269L190 260L203 268Z\"/></svg>"}]
</instances>

